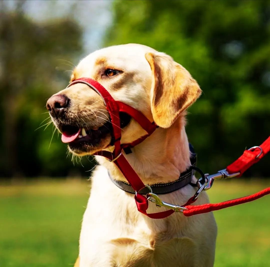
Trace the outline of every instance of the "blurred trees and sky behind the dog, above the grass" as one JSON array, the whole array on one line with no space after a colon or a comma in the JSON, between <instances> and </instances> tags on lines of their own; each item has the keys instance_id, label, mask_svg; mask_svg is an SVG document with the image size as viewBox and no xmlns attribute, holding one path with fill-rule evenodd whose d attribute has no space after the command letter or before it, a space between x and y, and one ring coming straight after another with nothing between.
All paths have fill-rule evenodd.
<instances>
[{"instance_id":1,"label":"blurred trees and sky behind the dog, above the grass","mask_svg":"<svg viewBox=\"0 0 270 267\"><path fill-rule=\"evenodd\" d=\"M29 6L47 16L34 20ZM73 166L52 138L46 99L65 88L82 57L131 42L171 55L201 86L187 133L204 172L269 136L270 1L0 1L0 177L89 175L94 163ZM269 177L268 162L245 176Z\"/></svg>"}]
</instances>

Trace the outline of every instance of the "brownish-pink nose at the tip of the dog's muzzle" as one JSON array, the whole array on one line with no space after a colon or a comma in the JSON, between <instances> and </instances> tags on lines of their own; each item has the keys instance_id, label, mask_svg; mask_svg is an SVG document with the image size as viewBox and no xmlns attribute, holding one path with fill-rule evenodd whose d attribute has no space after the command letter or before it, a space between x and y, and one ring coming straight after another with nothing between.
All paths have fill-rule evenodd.
<instances>
[{"instance_id":1,"label":"brownish-pink nose at the tip of the dog's muzzle","mask_svg":"<svg viewBox=\"0 0 270 267\"><path fill-rule=\"evenodd\" d=\"M65 108L68 106L69 98L65 95L53 95L49 98L46 104L46 108L53 117L62 115Z\"/></svg>"}]
</instances>

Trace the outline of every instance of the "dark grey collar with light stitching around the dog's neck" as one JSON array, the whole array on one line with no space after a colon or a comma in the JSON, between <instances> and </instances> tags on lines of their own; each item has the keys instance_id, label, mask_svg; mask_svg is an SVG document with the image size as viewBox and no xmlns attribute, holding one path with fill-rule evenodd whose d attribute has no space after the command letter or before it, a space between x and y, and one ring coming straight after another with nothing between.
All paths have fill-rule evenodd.
<instances>
[{"instance_id":1,"label":"dark grey collar with light stitching around the dog's neck","mask_svg":"<svg viewBox=\"0 0 270 267\"><path fill-rule=\"evenodd\" d=\"M189 144L189 148L190 148L191 166L195 167L197 164L197 154L194 153L194 148L191 144ZM114 180L109 172L108 172L108 174L109 174L111 181L116 186L118 186L120 189L122 189L126 192L129 192L129 193L135 194L134 189L129 185L129 183ZM180 173L180 176L179 176L178 180L176 180L176 181L169 182L169 183L156 183L156 184L150 185L150 186L151 186L154 194L157 194L157 195L168 194L168 193L174 192L174 191L186 186L188 183L190 183L191 179L193 177L193 174L194 174L194 170L192 167L190 167L186 171ZM140 191L140 194L143 194L143 195L145 195L147 193L149 193L149 189L146 187Z\"/></svg>"}]
</instances>

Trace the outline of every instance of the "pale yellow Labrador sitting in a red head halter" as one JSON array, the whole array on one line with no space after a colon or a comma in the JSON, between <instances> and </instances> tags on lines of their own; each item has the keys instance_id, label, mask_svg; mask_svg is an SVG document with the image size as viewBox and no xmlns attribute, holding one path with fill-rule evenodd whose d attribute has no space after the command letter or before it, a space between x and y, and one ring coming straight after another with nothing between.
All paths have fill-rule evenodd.
<instances>
[{"instance_id":1,"label":"pale yellow Labrador sitting in a red head halter","mask_svg":"<svg viewBox=\"0 0 270 267\"><path fill-rule=\"evenodd\" d=\"M191 163L186 109L200 96L201 89L183 66L148 46L125 44L97 50L82 59L71 81L82 77L98 81L115 100L132 106L159 126L132 153L125 154L145 184L175 181L188 169ZM47 108L60 133L72 135L81 129L68 144L73 154L113 151L109 113L100 95L86 84L73 84L53 95ZM126 117L120 117L122 143L146 133L134 119ZM213 266L217 226L212 213L148 218L138 212L134 194L111 181L126 181L116 165L102 156L95 158L99 166L92 175L76 267ZM195 191L188 184L161 198L180 205ZM196 204L208 202L204 191ZM161 209L150 203L147 212Z\"/></svg>"}]
</instances>

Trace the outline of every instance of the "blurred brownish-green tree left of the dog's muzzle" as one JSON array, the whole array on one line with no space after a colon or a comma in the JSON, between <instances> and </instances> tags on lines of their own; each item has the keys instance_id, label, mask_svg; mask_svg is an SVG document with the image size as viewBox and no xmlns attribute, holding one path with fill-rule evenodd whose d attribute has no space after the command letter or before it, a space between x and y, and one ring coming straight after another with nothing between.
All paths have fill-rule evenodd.
<instances>
[{"instance_id":1,"label":"blurred brownish-green tree left of the dog's muzzle","mask_svg":"<svg viewBox=\"0 0 270 267\"><path fill-rule=\"evenodd\" d=\"M66 159L59 140L48 149L51 126L35 129L48 117L46 99L68 81L55 68L59 59L66 64L82 53L82 29L68 18L37 24L24 14L24 2L14 12L0 3L0 175L65 176L80 166Z\"/></svg>"}]
</instances>

